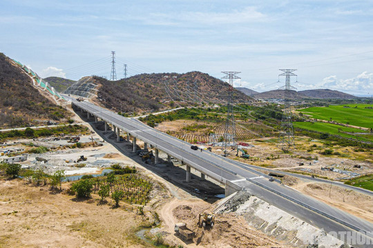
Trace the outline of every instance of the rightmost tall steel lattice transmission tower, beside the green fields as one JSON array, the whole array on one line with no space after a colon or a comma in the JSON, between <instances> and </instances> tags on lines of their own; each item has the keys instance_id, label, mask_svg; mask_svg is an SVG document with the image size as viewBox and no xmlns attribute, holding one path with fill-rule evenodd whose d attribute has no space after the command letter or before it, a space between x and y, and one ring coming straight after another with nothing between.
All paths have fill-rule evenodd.
<instances>
[{"instance_id":1,"label":"rightmost tall steel lattice transmission tower, beside the green fields","mask_svg":"<svg viewBox=\"0 0 373 248\"><path fill-rule=\"evenodd\" d=\"M279 89L284 90L285 106L283 110L283 118L281 120L280 135L278 136L278 147L285 150L290 147L295 147L293 120L291 118L290 90L296 90L296 88L290 85L290 77L297 75L293 73L296 69L280 69L280 71L283 71L283 73L279 74L278 78L280 79L280 76L285 76L285 86L280 87Z\"/></svg>"}]
</instances>

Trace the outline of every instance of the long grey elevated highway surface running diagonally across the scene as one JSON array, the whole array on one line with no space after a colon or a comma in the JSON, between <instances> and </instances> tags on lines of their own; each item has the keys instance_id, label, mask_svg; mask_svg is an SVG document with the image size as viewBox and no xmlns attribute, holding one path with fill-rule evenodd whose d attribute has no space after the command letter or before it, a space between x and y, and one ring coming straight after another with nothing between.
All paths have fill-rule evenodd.
<instances>
[{"instance_id":1,"label":"long grey elevated highway surface running diagonally across the scene","mask_svg":"<svg viewBox=\"0 0 373 248\"><path fill-rule=\"evenodd\" d=\"M184 161L187 165L198 169L207 176L221 183L233 183L238 187L245 187L251 194L305 220L307 223L323 228L325 231L354 232L362 230L367 236L373 238L373 223L305 196L285 185L270 182L267 175L256 172L255 169L248 167L246 164L211 152L194 151L190 149L191 144L157 131L135 118L119 116L93 103L79 102L74 99L72 101L74 105L90 112L90 114L102 118L104 121L119 127L120 130L140 138L180 161Z\"/></svg>"}]
</instances>

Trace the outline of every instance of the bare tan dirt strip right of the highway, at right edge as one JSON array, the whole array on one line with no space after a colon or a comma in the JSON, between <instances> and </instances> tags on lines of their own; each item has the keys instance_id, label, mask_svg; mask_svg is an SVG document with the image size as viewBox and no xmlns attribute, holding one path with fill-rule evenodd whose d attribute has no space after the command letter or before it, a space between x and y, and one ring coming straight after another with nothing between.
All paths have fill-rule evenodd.
<instances>
[{"instance_id":1,"label":"bare tan dirt strip right of the highway, at right edge","mask_svg":"<svg viewBox=\"0 0 373 248\"><path fill-rule=\"evenodd\" d=\"M285 176L283 183L354 216L373 222L373 197L327 183L303 181Z\"/></svg>"}]
</instances>

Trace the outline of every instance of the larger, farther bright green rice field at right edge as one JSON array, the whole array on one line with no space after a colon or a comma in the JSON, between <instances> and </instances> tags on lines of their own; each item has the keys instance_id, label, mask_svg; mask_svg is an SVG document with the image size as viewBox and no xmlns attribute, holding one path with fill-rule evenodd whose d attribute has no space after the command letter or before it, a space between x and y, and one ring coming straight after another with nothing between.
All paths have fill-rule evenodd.
<instances>
[{"instance_id":1,"label":"larger, farther bright green rice field at right edge","mask_svg":"<svg viewBox=\"0 0 373 248\"><path fill-rule=\"evenodd\" d=\"M298 110L303 114L318 118L321 120L336 121L358 127L373 128L373 107L372 104L343 104L329 105L329 107L309 107ZM320 130L321 131L321 130Z\"/></svg>"}]
</instances>

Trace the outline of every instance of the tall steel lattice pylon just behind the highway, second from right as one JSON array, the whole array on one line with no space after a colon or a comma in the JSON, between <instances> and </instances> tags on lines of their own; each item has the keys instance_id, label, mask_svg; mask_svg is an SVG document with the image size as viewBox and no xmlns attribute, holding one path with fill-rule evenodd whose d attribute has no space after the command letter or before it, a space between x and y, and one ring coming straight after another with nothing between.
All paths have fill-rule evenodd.
<instances>
[{"instance_id":1,"label":"tall steel lattice pylon just behind the highway, second from right","mask_svg":"<svg viewBox=\"0 0 373 248\"><path fill-rule=\"evenodd\" d=\"M224 128L224 134L223 134L223 144L222 148L224 151L224 156L227 156L227 148L229 146L236 146L236 122L234 121L234 112L233 112L233 83L235 79L240 79L239 76L236 76L236 74L241 72L222 72L224 74L227 74L226 76L223 76L222 79L228 79L229 83L229 100L227 102L227 119L225 121L225 128Z\"/></svg>"}]
</instances>

